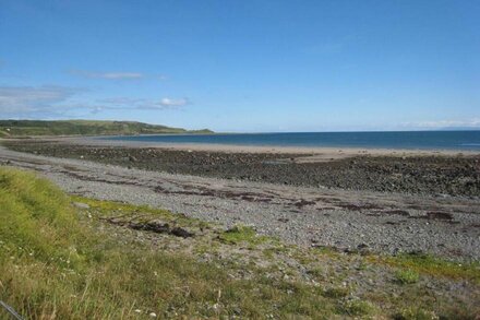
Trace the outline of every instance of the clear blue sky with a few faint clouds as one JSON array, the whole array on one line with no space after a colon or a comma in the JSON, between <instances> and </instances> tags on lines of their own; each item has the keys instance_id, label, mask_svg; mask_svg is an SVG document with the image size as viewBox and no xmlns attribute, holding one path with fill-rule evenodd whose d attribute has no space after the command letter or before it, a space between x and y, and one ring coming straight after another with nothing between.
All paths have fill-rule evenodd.
<instances>
[{"instance_id":1,"label":"clear blue sky with a few faint clouds","mask_svg":"<svg viewBox=\"0 0 480 320\"><path fill-rule=\"evenodd\" d=\"M0 0L0 118L480 128L480 1Z\"/></svg>"}]
</instances>

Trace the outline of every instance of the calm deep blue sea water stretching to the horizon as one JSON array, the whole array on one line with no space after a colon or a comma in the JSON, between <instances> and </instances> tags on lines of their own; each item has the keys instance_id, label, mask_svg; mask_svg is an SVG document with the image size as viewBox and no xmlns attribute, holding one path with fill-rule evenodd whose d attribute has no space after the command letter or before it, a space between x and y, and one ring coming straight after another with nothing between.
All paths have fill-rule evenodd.
<instances>
[{"instance_id":1,"label":"calm deep blue sea water stretching to the horizon","mask_svg":"<svg viewBox=\"0 0 480 320\"><path fill-rule=\"evenodd\" d=\"M439 149L480 151L480 131L298 132L161 134L100 138L148 143L215 143L267 146Z\"/></svg>"}]
</instances>

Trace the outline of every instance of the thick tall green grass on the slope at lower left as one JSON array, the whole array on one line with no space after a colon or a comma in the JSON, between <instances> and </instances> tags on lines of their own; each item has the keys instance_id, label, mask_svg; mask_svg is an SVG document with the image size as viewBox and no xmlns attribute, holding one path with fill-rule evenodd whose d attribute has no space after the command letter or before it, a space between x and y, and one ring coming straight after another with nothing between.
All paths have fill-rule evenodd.
<instances>
[{"instance_id":1,"label":"thick tall green grass on the slope at lower left","mask_svg":"<svg viewBox=\"0 0 480 320\"><path fill-rule=\"evenodd\" d=\"M231 278L220 263L119 244L31 173L0 167L0 299L27 319L137 319L136 309L145 317L316 318L334 310L315 287L273 281L261 272ZM122 209L88 203L101 203L92 210L112 215Z\"/></svg>"}]
</instances>

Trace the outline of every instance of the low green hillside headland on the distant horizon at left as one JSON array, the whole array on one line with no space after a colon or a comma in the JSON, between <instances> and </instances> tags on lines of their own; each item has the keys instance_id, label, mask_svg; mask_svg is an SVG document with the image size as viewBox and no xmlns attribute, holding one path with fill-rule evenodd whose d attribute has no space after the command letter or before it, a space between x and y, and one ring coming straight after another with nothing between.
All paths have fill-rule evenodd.
<instances>
[{"instance_id":1,"label":"low green hillside headland on the distant horizon at left","mask_svg":"<svg viewBox=\"0 0 480 320\"><path fill-rule=\"evenodd\" d=\"M0 138L33 135L105 135L154 133L212 133L211 130L189 131L181 128L135 121L99 120L0 120Z\"/></svg>"}]
</instances>

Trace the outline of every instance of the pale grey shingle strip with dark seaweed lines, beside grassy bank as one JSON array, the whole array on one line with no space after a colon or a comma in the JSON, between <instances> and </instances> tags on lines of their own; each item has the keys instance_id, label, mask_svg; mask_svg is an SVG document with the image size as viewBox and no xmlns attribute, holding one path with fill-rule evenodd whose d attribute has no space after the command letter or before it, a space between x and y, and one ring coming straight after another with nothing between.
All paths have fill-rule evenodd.
<instances>
[{"instance_id":1,"label":"pale grey shingle strip with dark seaweed lines, beside grassy bank","mask_svg":"<svg viewBox=\"0 0 480 320\"><path fill-rule=\"evenodd\" d=\"M106 162L110 161L116 162L111 157ZM87 154L84 159L57 158L4 147L0 147L0 163L37 170L73 194L164 208L226 228L252 225L261 234L300 246L480 258L480 200L475 194L220 179L94 163Z\"/></svg>"}]
</instances>

